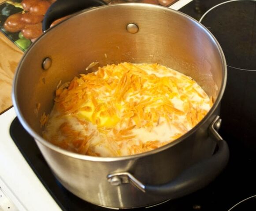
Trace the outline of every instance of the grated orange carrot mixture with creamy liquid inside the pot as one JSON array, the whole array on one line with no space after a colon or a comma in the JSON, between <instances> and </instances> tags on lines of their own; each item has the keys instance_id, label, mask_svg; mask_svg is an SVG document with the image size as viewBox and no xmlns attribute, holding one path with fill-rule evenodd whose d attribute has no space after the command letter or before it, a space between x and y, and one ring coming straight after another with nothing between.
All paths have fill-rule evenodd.
<instances>
[{"instance_id":1,"label":"grated orange carrot mixture with creamy liquid inside the pot","mask_svg":"<svg viewBox=\"0 0 256 211\"><path fill-rule=\"evenodd\" d=\"M43 135L84 155L134 155L182 136L212 104L196 81L160 64L111 64L56 89Z\"/></svg>"}]
</instances>

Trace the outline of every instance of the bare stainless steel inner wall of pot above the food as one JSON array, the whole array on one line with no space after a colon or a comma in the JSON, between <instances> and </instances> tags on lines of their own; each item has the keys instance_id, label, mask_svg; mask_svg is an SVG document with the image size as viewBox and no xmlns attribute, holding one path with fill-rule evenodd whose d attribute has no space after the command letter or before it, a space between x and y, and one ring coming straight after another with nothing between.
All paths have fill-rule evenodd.
<instances>
[{"instance_id":1,"label":"bare stainless steel inner wall of pot above the food","mask_svg":"<svg viewBox=\"0 0 256 211\"><path fill-rule=\"evenodd\" d=\"M139 31L128 33L129 23L136 23ZM46 57L51 58L52 65L43 70ZM59 81L87 73L85 68L92 62L99 66L160 63L191 76L214 98L224 73L215 41L200 24L179 12L147 4L94 8L53 27L22 59L15 95L21 114L33 130L41 134L39 119L43 112L51 111ZM36 115L33 111L37 103L41 107Z\"/></svg>"}]
</instances>

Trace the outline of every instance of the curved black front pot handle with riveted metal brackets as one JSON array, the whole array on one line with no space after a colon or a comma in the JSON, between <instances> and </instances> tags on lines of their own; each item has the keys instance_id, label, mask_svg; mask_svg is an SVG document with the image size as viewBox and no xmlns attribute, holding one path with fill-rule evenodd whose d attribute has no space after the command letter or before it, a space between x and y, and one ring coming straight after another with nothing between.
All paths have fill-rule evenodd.
<instances>
[{"instance_id":1,"label":"curved black front pot handle with riveted metal brackets","mask_svg":"<svg viewBox=\"0 0 256 211\"><path fill-rule=\"evenodd\" d=\"M143 184L129 172L108 174L107 178L111 185L121 185L131 183L142 192L166 195L169 198L178 198L203 188L213 181L224 169L229 159L229 148L216 131L219 129L221 119L216 116L209 127L209 133L215 137L218 150L210 158L194 164L185 170L169 183L162 185Z\"/></svg>"}]
</instances>

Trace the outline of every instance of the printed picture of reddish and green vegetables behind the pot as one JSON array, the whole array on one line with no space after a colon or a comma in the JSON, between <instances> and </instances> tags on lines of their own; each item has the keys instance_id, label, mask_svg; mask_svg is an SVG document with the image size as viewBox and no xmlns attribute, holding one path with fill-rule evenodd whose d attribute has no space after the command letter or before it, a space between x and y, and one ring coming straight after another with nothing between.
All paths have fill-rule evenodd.
<instances>
[{"instance_id":1,"label":"printed picture of reddish and green vegetables behind the pot","mask_svg":"<svg viewBox=\"0 0 256 211\"><path fill-rule=\"evenodd\" d=\"M42 32L42 21L54 0L7 0L0 4L0 32L22 51Z\"/></svg>"}]
</instances>

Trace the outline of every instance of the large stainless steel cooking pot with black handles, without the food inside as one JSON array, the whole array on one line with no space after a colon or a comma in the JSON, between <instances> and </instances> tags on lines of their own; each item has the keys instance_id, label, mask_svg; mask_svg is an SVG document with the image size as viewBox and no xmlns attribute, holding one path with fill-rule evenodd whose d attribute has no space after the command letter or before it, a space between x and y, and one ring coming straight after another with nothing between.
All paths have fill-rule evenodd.
<instances>
[{"instance_id":1,"label":"large stainless steel cooking pot with black handles, without the food inside","mask_svg":"<svg viewBox=\"0 0 256 211\"><path fill-rule=\"evenodd\" d=\"M68 2L72 7L76 1ZM92 6L95 1L85 2ZM50 7L45 30L61 14L54 13L56 6L68 15L70 10L65 5L60 9L59 4L63 0ZM160 63L191 76L215 103L192 130L150 152L108 158L68 152L42 138L39 120L44 112L50 113L59 81L86 73L92 62L100 66ZM217 129L225 84L222 49L199 22L167 7L112 4L76 13L46 30L19 63L13 103L22 126L34 137L65 188L93 204L131 208L185 196L207 185L223 170L229 150ZM37 111L38 103L41 107Z\"/></svg>"}]
</instances>

